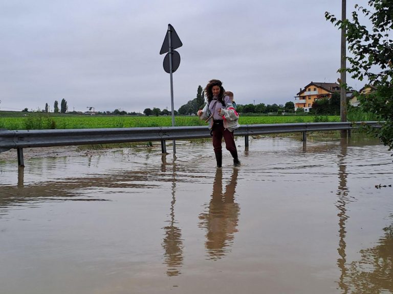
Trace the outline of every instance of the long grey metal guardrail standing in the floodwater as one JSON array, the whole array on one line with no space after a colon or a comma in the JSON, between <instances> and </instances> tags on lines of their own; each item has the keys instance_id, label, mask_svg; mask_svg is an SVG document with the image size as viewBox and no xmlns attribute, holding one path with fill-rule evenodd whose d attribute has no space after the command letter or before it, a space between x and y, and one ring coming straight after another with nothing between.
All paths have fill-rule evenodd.
<instances>
[{"instance_id":1,"label":"long grey metal guardrail standing in the floodwater","mask_svg":"<svg viewBox=\"0 0 393 294\"><path fill-rule=\"evenodd\" d=\"M382 122L381 122L382 123ZM379 128L380 122L306 122L298 124L243 125L235 131L235 136L244 136L248 146L250 135L338 131L360 128L363 125ZM24 165L23 148L106 144L125 142L161 141L162 153L166 153L166 140L209 138L207 127L156 127L117 129L72 129L72 130L0 130L0 152L17 149L18 164Z\"/></svg>"}]
</instances>

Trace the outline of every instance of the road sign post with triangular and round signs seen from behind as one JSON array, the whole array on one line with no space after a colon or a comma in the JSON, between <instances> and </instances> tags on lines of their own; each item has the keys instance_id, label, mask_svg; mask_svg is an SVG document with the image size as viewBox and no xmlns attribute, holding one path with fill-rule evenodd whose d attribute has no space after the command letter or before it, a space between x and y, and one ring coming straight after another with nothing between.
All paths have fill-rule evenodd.
<instances>
[{"instance_id":1,"label":"road sign post with triangular and round signs seen from behind","mask_svg":"<svg viewBox=\"0 0 393 294\"><path fill-rule=\"evenodd\" d=\"M164 42L162 43L160 54L167 53L164 58L164 70L168 72L170 76L170 103L172 107L172 127L174 127L174 109L173 109L173 80L172 73L179 68L180 65L180 54L174 49L183 46L182 41L176 31L173 29L171 24L168 24L168 31L165 35ZM173 140L173 153L176 153L176 145Z\"/></svg>"}]
</instances>

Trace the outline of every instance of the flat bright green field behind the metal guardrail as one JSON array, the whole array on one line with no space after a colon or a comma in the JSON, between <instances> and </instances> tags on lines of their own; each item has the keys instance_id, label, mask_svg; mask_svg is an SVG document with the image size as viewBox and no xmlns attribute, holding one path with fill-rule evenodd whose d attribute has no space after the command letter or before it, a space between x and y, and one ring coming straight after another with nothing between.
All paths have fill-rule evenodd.
<instances>
[{"instance_id":1,"label":"flat bright green field behind the metal guardrail","mask_svg":"<svg viewBox=\"0 0 393 294\"><path fill-rule=\"evenodd\" d=\"M73 115L18 113L5 115L0 112L0 128L8 130L42 129L96 129L96 128L140 128L170 127L170 116L129 116L129 115ZM339 116L241 116L239 124L283 124L294 122L339 121ZM176 126L206 126L198 116L176 116Z\"/></svg>"}]
</instances>

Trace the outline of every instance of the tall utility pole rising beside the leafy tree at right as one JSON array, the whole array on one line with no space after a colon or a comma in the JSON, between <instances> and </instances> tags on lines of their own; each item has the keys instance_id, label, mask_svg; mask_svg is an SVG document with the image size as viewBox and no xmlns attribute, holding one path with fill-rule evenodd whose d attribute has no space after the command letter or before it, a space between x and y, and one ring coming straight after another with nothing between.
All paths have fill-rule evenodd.
<instances>
[{"instance_id":1,"label":"tall utility pole rising beside the leafy tree at right","mask_svg":"<svg viewBox=\"0 0 393 294\"><path fill-rule=\"evenodd\" d=\"M346 121L346 0L341 0L341 66L340 66L340 118ZM341 131L341 138L346 138L347 131Z\"/></svg>"}]
</instances>

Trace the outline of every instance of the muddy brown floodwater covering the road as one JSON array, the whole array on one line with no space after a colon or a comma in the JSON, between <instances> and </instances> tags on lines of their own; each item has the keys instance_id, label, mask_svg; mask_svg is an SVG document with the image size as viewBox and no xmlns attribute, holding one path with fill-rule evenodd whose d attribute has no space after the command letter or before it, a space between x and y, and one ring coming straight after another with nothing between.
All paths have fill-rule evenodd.
<instances>
[{"instance_id":1,"label":"muddy brown floodwater covering the road","mask_svg":"<svg viewBox=\"0 0 393 294\"><path fill-rule=\"evenodd\" d=\"M0 160L0 292L393 293L393 163L369 138ZM171 146L167 147L171 152ZM3 154L4 158L4 154Z\"/></svg>"}]
</instances>

